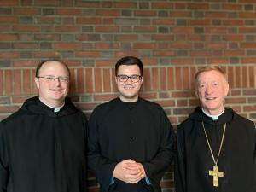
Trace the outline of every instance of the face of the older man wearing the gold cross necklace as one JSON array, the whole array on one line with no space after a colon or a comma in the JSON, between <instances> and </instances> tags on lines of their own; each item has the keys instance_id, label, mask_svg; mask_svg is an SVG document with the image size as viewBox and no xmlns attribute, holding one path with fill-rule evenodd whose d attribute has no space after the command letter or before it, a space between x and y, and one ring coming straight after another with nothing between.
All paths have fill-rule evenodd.
<instances>
[{"instance_id":1,"label":"face of the older man wearing the gold cross necklace","mask_svg":"<svg viewBox=\"0 0 256 192\"><path fill-rule=\"evenodd\" d=\"M229 84L224 75L216 70L202 72L197 78L196 95L202 108L212 115L218 115L224 110L224 96L229 92Z\"/></svg>"}]
</instances>

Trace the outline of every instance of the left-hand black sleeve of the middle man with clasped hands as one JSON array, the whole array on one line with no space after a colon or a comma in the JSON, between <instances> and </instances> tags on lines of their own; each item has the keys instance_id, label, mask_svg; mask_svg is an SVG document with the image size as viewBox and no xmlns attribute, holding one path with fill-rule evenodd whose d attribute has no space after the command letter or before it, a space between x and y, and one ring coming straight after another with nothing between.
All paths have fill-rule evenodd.
<instances>
[{"instance_id":1,"label":"left-hand black sleeve of the middle man with clasped hands","mask_svg":"<svg viewBox=\"0 0 256 192\"><path fill-rule=\"evenodd\" d=\"M114 167L117 162L109 160L101 153L100 144L98 141L98 124L96 112L93 112L89 119L88 129L88 166L96 175L98 182L103 191L107 191L111 178L113 177Z\"/></svg>"}]
</instances>

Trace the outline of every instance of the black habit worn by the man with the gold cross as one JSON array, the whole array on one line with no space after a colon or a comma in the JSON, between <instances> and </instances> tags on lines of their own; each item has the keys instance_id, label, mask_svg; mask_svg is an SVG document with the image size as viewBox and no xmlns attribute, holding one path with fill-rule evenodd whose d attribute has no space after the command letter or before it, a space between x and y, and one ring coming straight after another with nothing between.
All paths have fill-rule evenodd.
<instances>
[{"instance_id":1,"label":"black habit worn by the man with the gold cross","mask_svg":"<svg viewBox=\"0 0 256 192\"><path fill-rule=\"evenodd\" d=\"M226 132L218 168L219 187L213 187L212 155L201 122L215 159L218 156L224 124ZM256 134L253 122L241 117L231 108L225 109L218 120L205 115L201 108L189 115L177 127L177 161L175 183L177 192L255 192Z\"/></svg>"}]
</instances>

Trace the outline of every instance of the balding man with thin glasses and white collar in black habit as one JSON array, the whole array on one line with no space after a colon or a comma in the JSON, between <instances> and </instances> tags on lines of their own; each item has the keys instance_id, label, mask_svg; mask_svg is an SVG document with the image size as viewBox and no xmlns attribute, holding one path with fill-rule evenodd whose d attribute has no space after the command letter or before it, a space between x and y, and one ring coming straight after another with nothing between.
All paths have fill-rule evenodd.
<instances>
[{"instance_id":1,"label":"balding man with thin glasses and white collar in black habit","mask_svg":"<svg viewBox=\"0 0 256 192\"><path fill-rule=\"evenodd\" d=\"M66 98L69 79L64 62L41 62L39 95L0 123L1 192L84 191L87 119Z\"/></svg>"}]
</instances>

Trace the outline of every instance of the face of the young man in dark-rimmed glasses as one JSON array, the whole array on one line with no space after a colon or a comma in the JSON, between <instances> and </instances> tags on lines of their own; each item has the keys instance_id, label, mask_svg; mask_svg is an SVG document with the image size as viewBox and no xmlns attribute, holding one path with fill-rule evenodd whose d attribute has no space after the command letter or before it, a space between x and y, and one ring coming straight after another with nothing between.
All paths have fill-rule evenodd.
<instances>
[{"instance_id":1,"label":"face of the young man in dark-rimmed glasses","mask_svg":"<svg viewBox=\"0 0 256 192\"><path fill-rule=\"evenodd\" d=\"M141 75L139 67L134 65L121 65L118 69L118 75ZM119 90L120 100L123 102L137 102L138 92L143 84L143 77L134 83L131 79L127 79L126 82L120 82L118 77L115 77L115 82Z\"/></svg>"}]
</instances>

